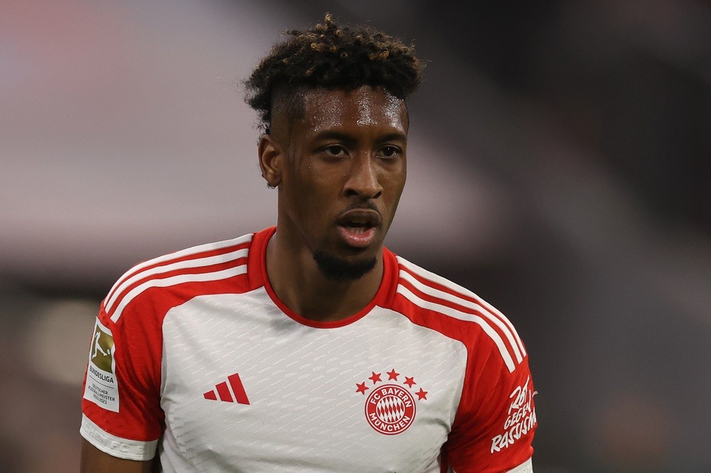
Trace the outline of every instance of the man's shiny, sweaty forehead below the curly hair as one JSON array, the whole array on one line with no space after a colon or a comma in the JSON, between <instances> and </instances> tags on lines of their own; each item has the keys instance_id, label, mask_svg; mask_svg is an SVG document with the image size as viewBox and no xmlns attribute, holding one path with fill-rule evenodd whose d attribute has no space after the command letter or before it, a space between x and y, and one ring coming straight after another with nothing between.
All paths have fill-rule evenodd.
<instances>
[{"instance_id":1,"label":"man's shiny, sweaty forehead below the curly hair","mask_svg":"<svg viewBox=\"0 0 711 473\"><path fill-rule=\"evenodd\" d=\"M314 131L355 127L387 127L407 132L407 108L384 89L312 89L304 92L304 122Z\"/></svg>"}]
</instances>

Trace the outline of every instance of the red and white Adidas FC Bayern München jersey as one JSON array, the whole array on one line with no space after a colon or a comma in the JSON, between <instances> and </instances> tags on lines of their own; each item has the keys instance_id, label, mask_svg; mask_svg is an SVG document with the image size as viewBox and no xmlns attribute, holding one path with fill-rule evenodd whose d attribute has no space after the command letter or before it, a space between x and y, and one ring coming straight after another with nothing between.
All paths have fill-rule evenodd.
<instances>
[{"instance_id":1,"label":"red and white Adidas FC Bayern M\u00fcnchen jersey","mask_svg":"<svg viewBox=\"0 0 711 473\"><path fill-rule=\"evenodd\" d=\"M167 472L530 472L523 343L473 293L383 251L357 314L269 285L275 229L146 261L103 300L81 433Z\"/></svg>"}]
</instances>

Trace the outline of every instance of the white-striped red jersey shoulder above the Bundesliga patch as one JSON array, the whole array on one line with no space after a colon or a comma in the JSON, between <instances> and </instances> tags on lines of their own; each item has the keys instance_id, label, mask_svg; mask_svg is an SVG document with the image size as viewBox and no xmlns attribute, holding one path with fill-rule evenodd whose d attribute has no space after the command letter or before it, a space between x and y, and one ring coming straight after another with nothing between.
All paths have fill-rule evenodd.
<instances>
[{"instance_id":1,"label":"white-striped red jersey shoulder above the Bundesliga patch","mask_svg":"<svg viewBox=\"0 0 711 473\"><path fill-rule=\"evenodd\" d=\"M192 246L149 259L123 274L102 301L102 310L117 322L132 308L150 306L165 312L201 293L225 290L225 281L247 273L254 234Z\"/></svg>"}]
</instances>

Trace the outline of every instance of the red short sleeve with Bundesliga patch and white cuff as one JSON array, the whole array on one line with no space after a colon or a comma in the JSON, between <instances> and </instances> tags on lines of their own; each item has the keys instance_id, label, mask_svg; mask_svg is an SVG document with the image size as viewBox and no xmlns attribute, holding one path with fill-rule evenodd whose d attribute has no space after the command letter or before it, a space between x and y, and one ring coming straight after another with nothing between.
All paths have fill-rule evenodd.
<instances>
[{"instance_id":1,"label":"red short sleeve with Bundesliga patch and white cuff","mask_svg":"<svg viewBox=\"0 0 711 473\"><path fill-rule=\"evenodd\" d=\"M132 303L112 320L102 303L84 376L82 437L114 457L154 457L164 429L161 354L161 327L149 304Z\"/></svg>"}]
</instances>

